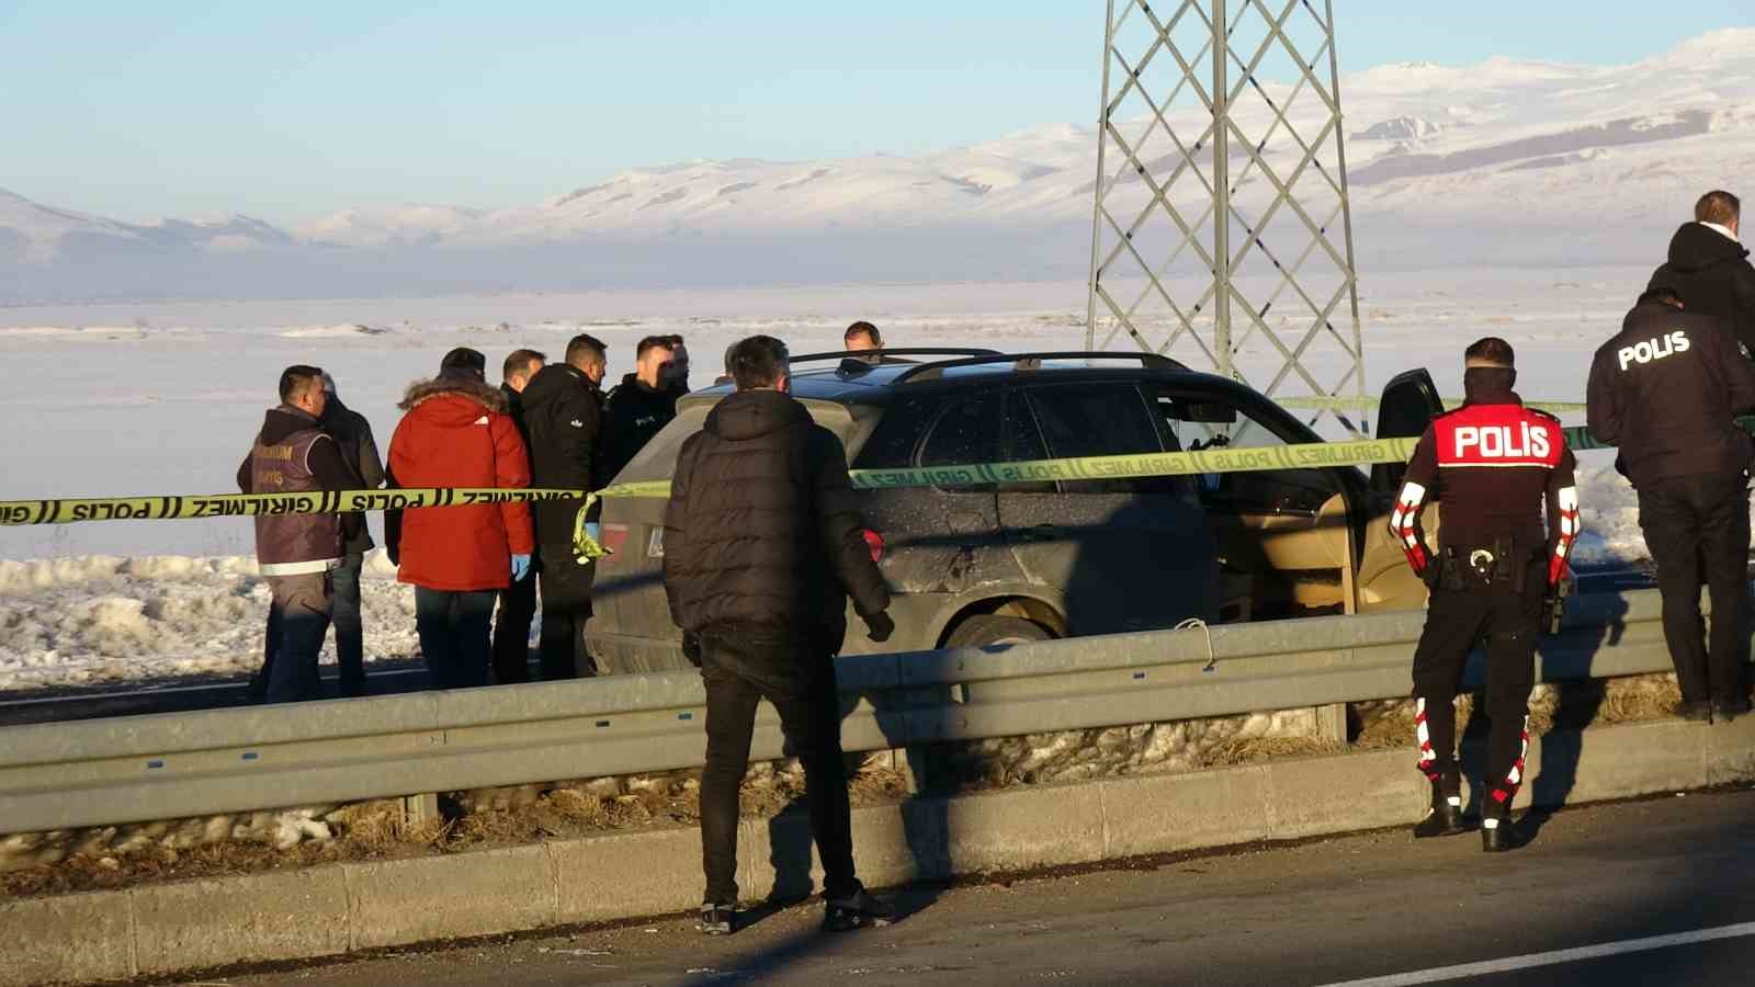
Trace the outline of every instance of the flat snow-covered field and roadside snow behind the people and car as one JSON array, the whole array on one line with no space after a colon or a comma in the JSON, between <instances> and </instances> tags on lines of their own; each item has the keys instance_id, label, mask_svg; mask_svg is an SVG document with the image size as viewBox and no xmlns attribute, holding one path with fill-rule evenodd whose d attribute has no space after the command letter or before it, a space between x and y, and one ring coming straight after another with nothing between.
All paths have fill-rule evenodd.
<instances>
[{"instance_id":1,"label":"flat snow-covered field and roadside snow behind the people and car","mask_svg":"<svg viewBox=\"0 0 1755 987\"><path fill-rule=\"evenodd\" d=\"M1460 393L1462 348L1504 335L1527 399L1581 400L1590 353L1620 327L1646 269L1441 270L1367 279L1367 378L1425 365ZM867 318L892 346L1078 349L1085 286L897 285L748 292L604 292L326 302L188 302L0 309L12 386L0 499L230 492L281 367L328 369L381 448L404 386L460 344L493 371L519 346L555 357L576 332L611 346L611 381L634 342L677 332L693 383L755 332L793 353L839 348ZM1190 353L1174 351L1188 358ZM1271 364L1244 353L1251 376ZM497 378L495 372L490 372ZM1327 376L1325 376L1327 379ZM1581 416L1567 416L1569 423ZM1583 460L1581 558L1639 558L1632 492L1602 453ZM374 532L379 530L374 520ZM253 574L249 520L114 522L0 529L0 688L251 669L267 587ZM365 587L367 652L414 652L412 594L383 560Z\"/></svg>"}]
</instances>

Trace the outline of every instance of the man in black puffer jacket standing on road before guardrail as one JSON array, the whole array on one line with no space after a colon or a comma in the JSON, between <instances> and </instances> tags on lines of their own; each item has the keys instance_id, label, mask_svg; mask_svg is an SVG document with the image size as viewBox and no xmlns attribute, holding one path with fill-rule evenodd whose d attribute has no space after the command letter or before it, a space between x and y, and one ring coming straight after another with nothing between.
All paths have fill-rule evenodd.
<instances>
[{"instance_id":1,"label":"man in black puffer jacket standing on road before guardrail","mask_svg":"<svg viewBox=\"0 0 1755 987\"><path fill-rule=\"evenodd\" d=\"M892 917L853 868L834 657L848 594L874 641L895 630L890 588L865 544L841 439L788 393L786 344L751 335L727 353L737 392L683 443L665 508L663 585L683 648L707 687L700 931L732 931L737 789L756 701L767 699L804 762L811 836L823 861L825 927Z\"/></svg>"}]
</instances>

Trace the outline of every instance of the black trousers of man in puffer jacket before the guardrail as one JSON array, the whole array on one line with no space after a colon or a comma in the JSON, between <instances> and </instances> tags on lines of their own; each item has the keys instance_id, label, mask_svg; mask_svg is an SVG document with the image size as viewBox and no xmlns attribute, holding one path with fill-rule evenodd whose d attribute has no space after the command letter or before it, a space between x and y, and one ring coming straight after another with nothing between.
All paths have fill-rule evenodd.
<instances>
[{"instance_id":1,"label":"black trousers of man in puffer jacket before the guardrail","mask_svg":"<svg viewBox=\"0 0 1755 987\"><path fill-rule=\"evenodd\" d=\"M700 774L704 901L737 903L737 790L749 769L760 699L774 704L788 746L804 764L823 892L828 897L856 894L834 657L781 638L707 632L700 636L700 678L707 687L707 767Z\"/></svg>"}]
</instances>

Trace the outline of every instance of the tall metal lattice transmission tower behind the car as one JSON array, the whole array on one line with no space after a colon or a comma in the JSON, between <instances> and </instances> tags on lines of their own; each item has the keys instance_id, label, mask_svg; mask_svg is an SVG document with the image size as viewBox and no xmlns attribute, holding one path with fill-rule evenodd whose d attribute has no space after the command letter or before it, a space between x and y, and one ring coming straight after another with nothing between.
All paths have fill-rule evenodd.
<instances>
[{"instance_id":1,"label":"tall metal lattice transmission tower behind the car","mask_svg":"<svg viewBox=\"0 0 1755 987\"><path fill-rule=\"evenodd\" d=\"M1365 432L1332 0L1107 16L1086 346L1125 334Z\"/></svg>"}]
</instances>

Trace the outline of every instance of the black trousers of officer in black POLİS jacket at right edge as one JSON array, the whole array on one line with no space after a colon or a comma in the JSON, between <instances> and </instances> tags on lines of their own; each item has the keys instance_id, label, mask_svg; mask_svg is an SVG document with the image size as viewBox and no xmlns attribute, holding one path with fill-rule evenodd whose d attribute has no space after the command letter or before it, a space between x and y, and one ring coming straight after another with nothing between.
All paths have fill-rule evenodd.
<instances>
[{"instance_id":1,"label":"black trousers of officer in black POL\u0130S jacket at right edge","mask_svg":"<svg viewBox=\"0 0 1755 987\"><path fill-rule=\"evenodd\" d=\"M1743 627L1750 557L1750 492L1744 474L1681 476L1639 488L1657 588L1664 595L1664 643L1688 702L1743 699ZM1701 583L1713 599L1713 639L1701 620Z\"/></svg>"}]
</instances>

